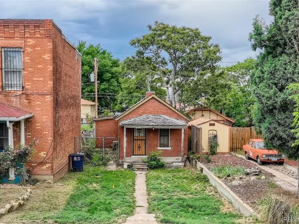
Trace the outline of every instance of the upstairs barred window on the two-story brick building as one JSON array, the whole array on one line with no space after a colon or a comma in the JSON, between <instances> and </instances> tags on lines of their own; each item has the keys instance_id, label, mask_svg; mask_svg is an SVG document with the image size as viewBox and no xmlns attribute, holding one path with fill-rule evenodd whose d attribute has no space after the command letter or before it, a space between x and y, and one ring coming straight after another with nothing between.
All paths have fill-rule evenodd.
<instances>
[{"instance_id":1,"label":"upstairs barred window on the two-story brick building","mask_svg":"<svg viewBox=\"0 0 299 224\"><path fill-rule=\"evenodd\" d=\"M2 48L3 90L23 90L22 48Z\"/></svg>"}]
</instances>

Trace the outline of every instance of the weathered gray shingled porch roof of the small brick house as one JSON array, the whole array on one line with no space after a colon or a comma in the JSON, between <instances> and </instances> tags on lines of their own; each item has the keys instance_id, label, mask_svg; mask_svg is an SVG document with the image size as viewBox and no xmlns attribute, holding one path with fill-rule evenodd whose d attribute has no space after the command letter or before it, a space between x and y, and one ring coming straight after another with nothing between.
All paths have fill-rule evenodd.
<instances>
[{"instance_id":1,"label":"weathered gray shingled porch roof of the small brick house","mask_svg":"<svg viewBox=\"0 0 299 224\"><path fill-rule=\"evenodd\" d=\"M170 118L165 115L142 115L136 118L121 121L120 126L138 127L187 127L188 124L182 120Z\"/></svg>"}]
</instances>

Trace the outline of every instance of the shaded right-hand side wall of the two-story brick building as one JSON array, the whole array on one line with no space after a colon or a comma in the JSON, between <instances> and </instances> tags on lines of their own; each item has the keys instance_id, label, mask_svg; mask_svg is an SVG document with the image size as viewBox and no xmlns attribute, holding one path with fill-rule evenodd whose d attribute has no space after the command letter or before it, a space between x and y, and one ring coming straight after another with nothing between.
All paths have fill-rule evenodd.
<instances>
[{"instance_id":1,"label":"shaded right-hand side wall of the two-story brick building","mask_svg":"<svg viewBox=\"0 0 299 224\"><path fill-rule=\"evenodd\" d=\"M80 137L81 133L81 56L55 25L53 101L53 161L54 173L57 173L68 164L69 154L75 152L74 137Z\"/></svg>"}]
</instances>

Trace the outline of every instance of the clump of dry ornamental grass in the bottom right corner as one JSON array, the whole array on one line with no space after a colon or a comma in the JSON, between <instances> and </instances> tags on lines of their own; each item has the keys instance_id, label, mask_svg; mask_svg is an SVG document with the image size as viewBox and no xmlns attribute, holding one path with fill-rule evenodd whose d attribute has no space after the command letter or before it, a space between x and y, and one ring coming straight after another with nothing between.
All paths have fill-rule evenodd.
<instances>
[{"instance_id":1,"label":"clump of dry ornamental grass in the bottom right corner","mask_svg":"<svg viewBox=\"0 0 299 224\"><path fill-rule=\"evenodd\" d=\"M257 212L266 224L295 224L299 221L299 206L282 194L269 194L258 201Z\"/></svg>"}]
</instances>

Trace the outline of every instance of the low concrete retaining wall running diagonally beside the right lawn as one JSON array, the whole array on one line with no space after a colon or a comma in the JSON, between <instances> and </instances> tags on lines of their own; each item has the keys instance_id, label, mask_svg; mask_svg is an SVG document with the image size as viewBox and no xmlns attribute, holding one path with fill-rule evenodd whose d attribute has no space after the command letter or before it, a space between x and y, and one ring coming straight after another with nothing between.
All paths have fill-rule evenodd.
<instances>
[{"instance_id":1,"label":"low concrete retaining wall running diagonally beside the right lawn","mask_svg":"<svg viewBox=\"0 0 299 224\"><path fill-rule=\"evenodd\" d=\"M256 212L241 200L231 189L228 188L221 180L219 180L211 171L209 171L202 163L196 161L196 168L202 170L210 183L245 216L256 216Z\"/></svg>"}]
</instances>

